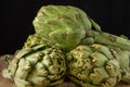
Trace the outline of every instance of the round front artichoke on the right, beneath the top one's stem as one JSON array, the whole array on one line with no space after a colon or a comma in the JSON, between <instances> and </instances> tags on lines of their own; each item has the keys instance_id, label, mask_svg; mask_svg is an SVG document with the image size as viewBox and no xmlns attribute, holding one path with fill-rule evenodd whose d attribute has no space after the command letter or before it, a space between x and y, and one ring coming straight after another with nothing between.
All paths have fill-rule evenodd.
<instances>
[{"instance_id":1,"label":"round front artichoke on the right, beneath the top one's stem","mask_svg":"<svg viewBox=\"0 0 130 87\"><path fill-rule=\"evenodd\" d=\"M68 77L81 87L114 87L121 79L116 51L103 45L80 45L66 61Z\"/></svg>"}]
</instances>

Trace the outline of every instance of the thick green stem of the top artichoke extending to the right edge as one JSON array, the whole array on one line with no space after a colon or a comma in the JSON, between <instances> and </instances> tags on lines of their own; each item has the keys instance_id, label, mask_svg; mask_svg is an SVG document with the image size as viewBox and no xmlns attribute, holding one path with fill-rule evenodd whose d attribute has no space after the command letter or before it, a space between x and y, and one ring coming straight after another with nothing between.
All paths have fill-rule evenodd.
<instances>
[{"instance_id":1,"label":"thick green stem of the top artichoke extending to the right edge","mask_svg":"<svg viewBox=\"0 0 130 87\"><path fill-rule=\"evenodd\" d=\"M100 32L92 30L92 33L93 33L93 39L95 44L114 46L121 49L130 50L130 40L128 39L118 37L113 34L104 33L104 32L100 33Z\"/></svg>"}]
</instances>

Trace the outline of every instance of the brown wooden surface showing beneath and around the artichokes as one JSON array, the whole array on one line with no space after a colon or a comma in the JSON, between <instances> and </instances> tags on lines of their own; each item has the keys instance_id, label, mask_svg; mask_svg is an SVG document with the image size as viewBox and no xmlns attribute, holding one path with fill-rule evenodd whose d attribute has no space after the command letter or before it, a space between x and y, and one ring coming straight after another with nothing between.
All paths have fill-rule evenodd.
<instances>
[{"instance_id":1,"label":"brown wooden surface showing beneath and around the artichokes","mask_svg":"<svg viewBox=\"0 0 130 87\"><path fill-rule=\"evenodd\" d=\"M3 61L3 55L2 55L0 57L0 87L15 87L15 85L10 79L2 77L1 71L5 67L6 67L6 63ZM66 82L56 87L77 87L77 86L73 83ZM130 87L130 85L119 84L116 87Z\"/></svg>"}]
</instances>

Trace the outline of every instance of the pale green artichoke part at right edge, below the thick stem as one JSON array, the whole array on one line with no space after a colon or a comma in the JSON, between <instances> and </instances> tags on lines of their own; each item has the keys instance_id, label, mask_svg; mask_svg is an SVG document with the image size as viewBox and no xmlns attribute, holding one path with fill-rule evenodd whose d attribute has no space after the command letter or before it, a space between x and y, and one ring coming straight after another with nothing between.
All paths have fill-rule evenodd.
<instances>
[{"instance_id":1,"label":"pale green artichoke part at right edge, below the thick stem","mask_svg":"<svg viewBox=\"0 0 130 87\"><path fill-rule=\"evenodd\" d=\"M117 52L117 57L120 60L119 64L121 69L121 80L130 84L130 51L116 47L109 48L113 48Z\"/></svg>"}]
</instances>

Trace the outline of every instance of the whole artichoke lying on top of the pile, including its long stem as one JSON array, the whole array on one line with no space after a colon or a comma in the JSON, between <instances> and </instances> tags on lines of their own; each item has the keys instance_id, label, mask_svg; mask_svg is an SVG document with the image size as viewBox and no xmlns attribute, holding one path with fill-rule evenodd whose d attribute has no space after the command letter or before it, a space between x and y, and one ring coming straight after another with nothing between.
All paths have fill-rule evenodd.
<instances>
[{"instance_id":1,"label":"whole artichoke lying on top of the pile, including its long stem","mask_svg":"<svg viewBox=\"0 0 130 87\"><path fill-rule=\"evenodd\" d=\"M98 23L76 7L41 7L32 24L36 34L43 36L49 44L55 44L64 51L70 51L80 42L96 42L130 50L130 40L102 32Z\"/></svg>"}]
</instances>

